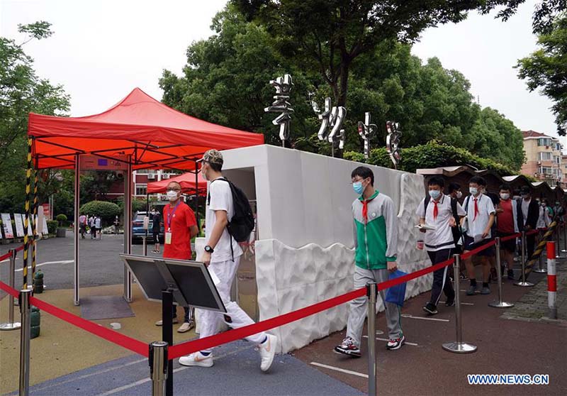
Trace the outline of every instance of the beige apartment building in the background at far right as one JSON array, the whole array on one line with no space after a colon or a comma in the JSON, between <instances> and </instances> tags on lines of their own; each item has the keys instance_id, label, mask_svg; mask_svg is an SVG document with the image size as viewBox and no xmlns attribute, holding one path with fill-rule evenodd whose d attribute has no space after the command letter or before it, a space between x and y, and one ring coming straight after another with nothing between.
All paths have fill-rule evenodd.
<instances>
[{"instance_id":1,"label":"beige apartment building in the background at far right","mask_svg":"<svg viewBox=\"0 0 567 396\"><path fill-rule=\"evenodd\" d=\"M561 150L563 146L558 138L536 131L522 131L524 152L527 161L522 166L522 174L535 177L551 187L565 184L563 175L567 175L566 163Z\"/></svg>"}]
</instances>

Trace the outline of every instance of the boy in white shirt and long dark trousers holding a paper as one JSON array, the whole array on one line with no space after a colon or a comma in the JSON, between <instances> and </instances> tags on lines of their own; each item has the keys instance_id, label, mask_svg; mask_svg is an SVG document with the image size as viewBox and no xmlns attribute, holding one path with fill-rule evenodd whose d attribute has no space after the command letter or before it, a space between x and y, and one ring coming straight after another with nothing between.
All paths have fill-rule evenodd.
<instances>
[{"instance_id":1,"label":"boy in white shirt and long dark trousers holding a paper","mask_svg":"<svg viewBox=\"0 0 567 396\"><path fill-rule=\"evenodd\" d=\"M457 200L449 195L443 194L444 180L442 177L434 176L427 182L429 196L422 200L417 207L417 216L420 224L434 227L434 230L420 229L425 232L425 249L430 256L432 265L449 260L455 249L452 228L456 226L456 219L465 216L466 212ZM437 304L441 292L445 293L447 302L445 305L451 307L455 302L453 285L449 281L447 271L449 266L434 271L431 298L423 310L427 314L437 314Z\"/></svg>"}]
</instances>

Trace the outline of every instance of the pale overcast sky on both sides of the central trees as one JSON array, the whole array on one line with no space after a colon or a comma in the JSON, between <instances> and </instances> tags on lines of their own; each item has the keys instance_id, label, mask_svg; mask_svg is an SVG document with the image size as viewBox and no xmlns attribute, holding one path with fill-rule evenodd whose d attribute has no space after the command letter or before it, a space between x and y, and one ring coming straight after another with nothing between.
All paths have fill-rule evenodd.
<instances>
[{"instance_id":1,"label":"pale overcast sky on both sides of the central trees","mask_svg":"<svg viewBox=\"0 0 567 396\"><path fill-rule=\"evenodd\" d=\"M40 77L62 84L71 95L72 116L96 114L140 87L162 98L163 69L180 73L193 40L206 38L225 0L0 0L0 35L24 39L18 23L48 21L55 34L25 46ZM505 114L516 126L556 136L551 101L529 93L512 68L536 48L531 22L534 1L506 23L492 16L425 31L413 53L437 56L462 72L482 106ZM562 139L563 141L564 139ZM565 143L564 141L562 143Z\"/></svg>"}]
</instances>

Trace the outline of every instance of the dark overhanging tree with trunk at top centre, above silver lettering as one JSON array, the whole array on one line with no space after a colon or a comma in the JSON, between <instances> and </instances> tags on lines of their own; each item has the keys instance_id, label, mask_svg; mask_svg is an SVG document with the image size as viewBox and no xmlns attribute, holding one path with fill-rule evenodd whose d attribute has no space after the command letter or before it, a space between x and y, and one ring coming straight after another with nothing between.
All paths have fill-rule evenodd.
<instances>
[{"instance_id":1,"label":"dark overhanging tree with trunk at top centre, above silver lettering","mask_svg":"<svg viewBox=\"0 0 567 396\"><path fill-rule=\"evenodd\" d=\"M510 12L523 0L232 0L250 21L277 37L279 50L305 70L316 70L335 103L347 104L349 75L361 55L385 40L413 43L442 23L460 22L468 11Z\"/></svg>"}]
</instances>

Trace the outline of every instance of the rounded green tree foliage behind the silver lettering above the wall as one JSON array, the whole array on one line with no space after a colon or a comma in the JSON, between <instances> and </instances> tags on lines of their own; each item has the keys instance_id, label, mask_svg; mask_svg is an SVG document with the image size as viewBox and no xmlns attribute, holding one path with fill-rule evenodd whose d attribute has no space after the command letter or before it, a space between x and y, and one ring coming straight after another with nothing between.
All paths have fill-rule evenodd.
<instances>
[{"instance_id":1,"label":"rounded green tree foliage behind the silver lettering above the wall","mask_svg":"<svg viewBox=\"0 0 567 396\"><path fill-rule=\"evenodd\" d=\"M320 121L313 104L322 106L332 96L320 72L284 56L279 38L257 21L246 21L230 4L214 18L213 28L215 35L189 46L181 77L164 71L159 81L164 102L201 119L264 132L266 143L279 144L274 114L264 113L264 106L273 100L269 80L289 72L295 83L293 147L330 155L330 144L316 136ZM498 111L481 109L460 72L445 69L437 58L424 64L410 50L408 44L384 40L352 65L345 151L362 149L357 121L371 111L378 125L371 147L385 145L385 124L393 120L401 125L402 147L437 139L520 170L522 134L513 123Z\"/></svg>"}]
</instances>

